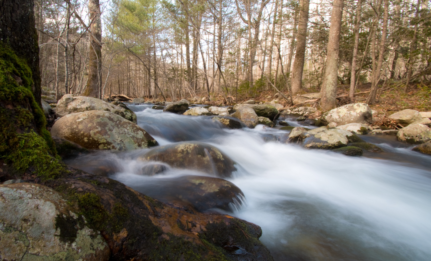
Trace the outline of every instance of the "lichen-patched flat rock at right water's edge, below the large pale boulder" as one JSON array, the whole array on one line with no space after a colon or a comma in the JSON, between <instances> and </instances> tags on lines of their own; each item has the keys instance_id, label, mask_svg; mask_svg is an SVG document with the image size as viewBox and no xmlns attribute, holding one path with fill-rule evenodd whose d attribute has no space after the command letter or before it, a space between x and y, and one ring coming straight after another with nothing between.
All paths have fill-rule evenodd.
<instances>
[{"instance_id":1,"label":"lichen-patched flat rock at right water's edge, below the large pale boulder","mask_svg":"<svg viewBox=\"0 0 431 261\"><path fill-rule=\"evenodd\" d=\"M300 139L303 147L330 150L347 146L349 140L344 132L347 131L320 127L303 132ZM351 134L350 132L347 133Z\"/></svg>"}]
</instances>

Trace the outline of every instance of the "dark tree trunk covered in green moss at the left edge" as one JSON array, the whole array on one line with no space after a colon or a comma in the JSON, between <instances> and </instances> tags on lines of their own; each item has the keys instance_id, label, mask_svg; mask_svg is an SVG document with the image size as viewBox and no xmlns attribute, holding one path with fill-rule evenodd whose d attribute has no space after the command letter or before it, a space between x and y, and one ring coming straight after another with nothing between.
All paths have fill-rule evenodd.
<instances>
[{"instance_id":1,"label":"dark tree trunk covered in green moss at the left edge","mask_svg":"<svg viewBox=\"0 0 431 261\"><path fill-rule=\"evenodd\" d=\"M41 110L33 0L0 0L0 181L54 178L59 162Z\"/></svg>"}]
</instances>

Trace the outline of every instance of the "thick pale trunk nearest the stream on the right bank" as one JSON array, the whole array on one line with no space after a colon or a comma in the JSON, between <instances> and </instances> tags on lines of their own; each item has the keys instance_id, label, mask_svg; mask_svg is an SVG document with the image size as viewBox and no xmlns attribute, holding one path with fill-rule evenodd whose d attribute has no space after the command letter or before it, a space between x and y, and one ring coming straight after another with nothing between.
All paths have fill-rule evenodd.
<instances>
[{"instance_id":1,"label":"thick pale trunk nearest the stream on the right bank","mask_svg":"<svg viewBox=\"0 0 431 261\"><path fill-rule=\"evenodd\" d=\"M320 106L324 110L336 107L338 80L338 52L340 50L341 19L343 18L343 0L334 0L332 4L331 27L326 57L325 76L323 77Z\"/></svg>"}]
</instances>

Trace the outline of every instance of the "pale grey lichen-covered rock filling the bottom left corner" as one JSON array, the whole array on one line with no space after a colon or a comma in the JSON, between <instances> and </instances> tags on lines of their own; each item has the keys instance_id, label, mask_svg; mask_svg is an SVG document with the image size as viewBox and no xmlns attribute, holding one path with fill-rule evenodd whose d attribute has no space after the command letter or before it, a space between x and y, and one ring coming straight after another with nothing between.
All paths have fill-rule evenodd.
<instances>
[{"instance_id":1,"label":"pale grey lichen-covered rock filling the bottom left corner","mask_svg":"<svg viewBox=\"0 0 431 261\"><path fill-rule=\"evenodd\" d=\"M38 184L0 185L0 260L109 260L100 232Z\"/></svg>"}]
</instances>

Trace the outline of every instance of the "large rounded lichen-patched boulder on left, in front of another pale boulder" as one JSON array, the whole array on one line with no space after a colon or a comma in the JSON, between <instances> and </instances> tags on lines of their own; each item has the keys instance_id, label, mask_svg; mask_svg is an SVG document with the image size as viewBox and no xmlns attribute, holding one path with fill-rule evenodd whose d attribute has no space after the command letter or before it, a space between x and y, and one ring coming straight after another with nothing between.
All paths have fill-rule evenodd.
<instances>
[{"instance_id":1,"label":"large rounded lichen-patched boulder on left, in front of another pale boulder","mask_svg":"<svg viewBox=\"0 0 431 261\"><path fill-rule=\"evenodd\" d=\"M144 129L108 111L84 111L61 117L51 135L94 150L134 150L158 145Z\"/></svg>"}]
</instances>

